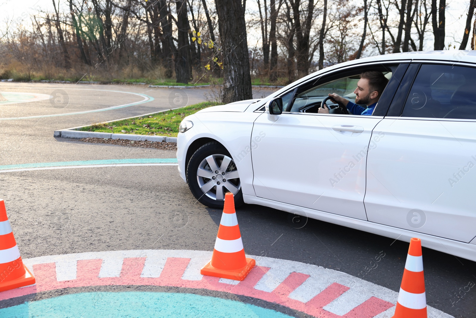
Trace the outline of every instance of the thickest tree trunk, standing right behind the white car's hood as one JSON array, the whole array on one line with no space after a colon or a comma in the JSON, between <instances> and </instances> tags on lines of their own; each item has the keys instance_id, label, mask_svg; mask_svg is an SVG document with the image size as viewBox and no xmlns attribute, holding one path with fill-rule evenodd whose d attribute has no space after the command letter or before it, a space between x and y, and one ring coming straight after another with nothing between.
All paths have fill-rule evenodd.
<instances>
[{"instance_id":1,"label":"thickest tree trunk, standing right behind the white car's hood","mask_svg":"<svg viewBox=\"0 0 476 318\"><path fill-rule=\"evenodd\" d=\"M222 103L253 98L245 9L240 0L215 0L223 46Z\"/></svg>"}]
</instances>

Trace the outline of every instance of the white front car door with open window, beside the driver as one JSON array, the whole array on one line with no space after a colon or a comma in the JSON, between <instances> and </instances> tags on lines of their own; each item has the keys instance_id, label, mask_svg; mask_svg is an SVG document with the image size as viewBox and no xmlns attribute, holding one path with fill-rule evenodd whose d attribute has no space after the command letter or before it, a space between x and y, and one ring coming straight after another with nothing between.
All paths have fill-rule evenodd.
<instances>
[{"instance_id":1,"label":"white front car door with open window, beside the driver","mask_svg":"<svg viewBox=\"0 0 476 318\"><path fill-rule=\"evenodd\" d=\"M397 70L397 66L392 64L392 70ZM302 111L317 109L316 105L327 96L324 88L335 92L333 90L340 87L344 90L340 91L343 96L348 91L353 92L355 86L346 91L348 82L352 76L364 69L369 70L369 67L372 66L354 67L310 80L283 94L283 103L288 107L284 108L285 112L278 120L270 120L267 113L257 118L251 136L252 145L255 145L251 155L253 186L258 197L367 220L363 204L367 150L374 147L370 141L371 133L383 116ZM385 70L390 65L379 64L378 67ZM403 72L400 70L398 74L403 75ZM386 94L393 97L397 85L389 83L387 88L394 88L384 91L382 104L377 108L388 106L391 98L384 97ZM300 91L320 92L322 95L298 98L300 105L296 106L296 96ZM347 95L352 98L352 94ZM289 96L294 96L290 102Z\"/></svg>"}]
</instances>

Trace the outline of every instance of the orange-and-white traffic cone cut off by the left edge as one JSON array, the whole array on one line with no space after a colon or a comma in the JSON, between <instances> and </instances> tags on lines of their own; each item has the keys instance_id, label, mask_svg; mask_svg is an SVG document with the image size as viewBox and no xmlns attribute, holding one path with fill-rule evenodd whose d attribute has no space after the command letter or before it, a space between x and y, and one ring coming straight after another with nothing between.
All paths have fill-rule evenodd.
<instances>
[{"instance_id":1,"label":"orange-and-white traffic cone cut off by the left edge","mask_svg":"<svg viewBox=\"0 0 476 318\"><path fill-rule=\"evenodd\" d=\"M8 221L5 202L0 200L0 292L35 284L35 277L23 265Z\"/></svg>"}]
</instances>

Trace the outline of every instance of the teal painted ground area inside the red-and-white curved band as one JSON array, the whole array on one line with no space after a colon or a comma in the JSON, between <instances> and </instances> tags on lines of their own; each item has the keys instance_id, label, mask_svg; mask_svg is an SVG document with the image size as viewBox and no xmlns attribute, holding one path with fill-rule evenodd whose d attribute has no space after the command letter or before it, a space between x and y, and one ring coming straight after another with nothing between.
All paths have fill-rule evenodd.
<instances>
[{"instance_id":1,"label":"teal painted ground area inside the red-and-white curved band","mask_svg":"<svg viewBox=\"0 0 476 318\"><path fill-rule=\"evenodd\" d=\"M241 301L195 294L90 292L30 301L0 309L2 318L287 318L278 311Z\"/></svg>"}]
</instances>

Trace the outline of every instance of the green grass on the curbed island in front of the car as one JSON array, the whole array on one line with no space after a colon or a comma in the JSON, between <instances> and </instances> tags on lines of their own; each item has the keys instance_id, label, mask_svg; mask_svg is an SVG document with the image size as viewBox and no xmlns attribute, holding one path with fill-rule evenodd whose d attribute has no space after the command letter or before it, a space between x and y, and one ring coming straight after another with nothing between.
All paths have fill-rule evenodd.
<instances>
[{"instance_id":1,"label":"green grass on the curbed island in front of the car","mask_svg":"<svg viewBox=\"0 0 476 318\"><path fill-rule=\"evenodd\" d=\"M79 130L85 132L101 133L132 133L136 135L158 135L177 137L178 125L188 115L198 112L218 103L202 102L175 110L150 114L145 117L134 117L118 120L110 123L95 123L91 126L82 127Z\"/></svg>"}]
</instances>

